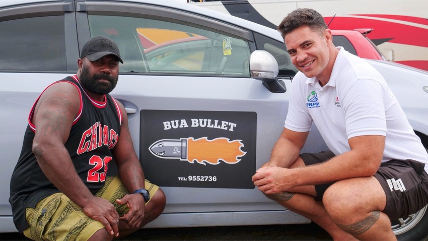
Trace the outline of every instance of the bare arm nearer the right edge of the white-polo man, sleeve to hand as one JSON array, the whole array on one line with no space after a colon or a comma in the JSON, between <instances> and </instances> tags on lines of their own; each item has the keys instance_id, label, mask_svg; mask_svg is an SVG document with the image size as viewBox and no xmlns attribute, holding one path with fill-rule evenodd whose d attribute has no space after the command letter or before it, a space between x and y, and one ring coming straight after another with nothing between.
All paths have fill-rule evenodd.
<instances>
[{"instance_id":1,"label":"bare arm nearer the right edge of the white-polo man, sleeve to hand","mask_svg":"<svg viewBox=\"0 0 428 241\"><path fill-rule=\"evenodd\" d=\"M287 192L295 187L371 176L379 168L385 145L384 136L359 136L349 139L351 150L317 165L301 168L260 168L254 180L265 194Z\"/></svg>"}]
</instances>

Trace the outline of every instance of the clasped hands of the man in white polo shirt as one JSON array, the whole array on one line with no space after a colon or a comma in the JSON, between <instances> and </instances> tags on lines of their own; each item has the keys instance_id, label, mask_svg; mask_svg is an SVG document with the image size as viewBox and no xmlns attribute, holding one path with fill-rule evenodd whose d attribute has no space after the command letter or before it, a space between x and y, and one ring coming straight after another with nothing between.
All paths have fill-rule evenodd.
<instances>
[{"instance_id":1,"label":"clasped hands of the man in white polo shirt","mask_svg":"<svg viewBox=\"0 0 428 241\"><path fill-rule=\"evenodd\" d=\"M290 177L291 169L263 166L256 171L251 178L258 190L265 194L275 194L287 192L293 188L292 178Z\"/></svg>"}]
</instances>

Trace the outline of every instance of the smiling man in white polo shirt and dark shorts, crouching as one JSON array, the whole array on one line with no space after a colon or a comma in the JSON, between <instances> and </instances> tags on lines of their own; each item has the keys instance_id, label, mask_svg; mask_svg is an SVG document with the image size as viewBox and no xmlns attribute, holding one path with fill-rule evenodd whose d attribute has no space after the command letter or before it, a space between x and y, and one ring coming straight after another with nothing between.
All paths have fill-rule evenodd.
<instances>
[{"instance_id":1,"label":"smiling man in white polo shirt and dark shorts, crouching","mask_svg":"<svg viewBox=\"0 0 428 241\"><path fill-rule=\"evenodd\" d=\"M428 203L428 154L384 78L332 43L312 9L278 27L293 64L284 130L254 185L336 239L396 239L390 219ZM312 123L329 150L302 153Z\"/></svg>"}]
</instances>

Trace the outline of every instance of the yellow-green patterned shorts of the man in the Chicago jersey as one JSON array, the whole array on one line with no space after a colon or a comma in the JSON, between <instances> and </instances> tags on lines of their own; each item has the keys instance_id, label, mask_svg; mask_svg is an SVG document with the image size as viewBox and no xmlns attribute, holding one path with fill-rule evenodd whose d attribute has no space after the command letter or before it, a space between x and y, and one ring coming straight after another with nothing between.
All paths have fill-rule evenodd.
<instances>
[{"instance_id":1,"label":"yellow-green patterned shorts of the man in the Chicago jersey","mask_svg":"<svg viewBox=\"0 0 428 241\"><path fill-rule=\"evenodd\" d=\"M150 197L159 189L148 180L145 187L150 192ZM117 204L116 199L126 194L128 192L119 177L109 176L104 187L95 196L110 201L119 216L123 216L129 209L126 204ZM88 240L96 231L104 228L101 222L86 216L81 207L62 193L42 199L35 209L27 208L26 219L30 227L24 230L24 235L34 240Z\"/></svg>"}]
</instances>

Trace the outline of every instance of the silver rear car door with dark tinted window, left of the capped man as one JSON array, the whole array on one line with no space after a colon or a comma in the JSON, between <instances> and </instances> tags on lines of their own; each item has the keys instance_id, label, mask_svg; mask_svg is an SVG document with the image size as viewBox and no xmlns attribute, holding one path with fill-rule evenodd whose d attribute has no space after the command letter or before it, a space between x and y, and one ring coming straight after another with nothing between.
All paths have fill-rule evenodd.
<instances>
[{"instance_id":1,"label":"silver rear car door with dark tinted window, left of the capped man","mask_svg":"<svg viewBox=\"0 0 428 241\"><path fill-rule=\"evenodd\" d=\"M16 230L10 179L30 108L50 83L76 73L79 56L72 2L13 4L0 5L0 232Z\"/></svg>"}]
</instances>

